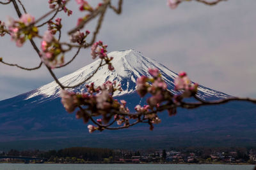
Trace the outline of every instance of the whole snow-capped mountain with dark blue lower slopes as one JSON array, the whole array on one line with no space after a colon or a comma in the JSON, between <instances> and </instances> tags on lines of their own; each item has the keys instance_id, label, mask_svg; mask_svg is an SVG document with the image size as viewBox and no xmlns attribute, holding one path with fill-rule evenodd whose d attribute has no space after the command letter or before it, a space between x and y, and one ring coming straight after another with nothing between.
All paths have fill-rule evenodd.
<instances>
[{"instance_id":1,"label":"whole snow-capped mountain with dark blue lower slopes","mask_svg":"<svg viewBox=\"0 0 256 170\"><path fill-rule=\"evenodd\" d=\"M106 80L122 85L116 99L125 99L132 110L145 103L136 93L136 79L148 75L148 67L157 67L168 89L173 91L176 73L136 50L108 53L113 57L115 71L100 67L86 83L101 85ZM59 80L63 85L76 85L93 74L99 66L96 60ZM84 92L85 83L74 89ZM174 92L174 91L173 91ZM179 109L175 117L159 113L162 123L149 131L147 125L137 125L120 131L88 134L82 120L68 114L60 103L60 87L52 81L25 94L0 101L0 150L6 148L61 148L65 146L99 146L111 148L166 148L186 145L255 145L256 106L232 102L220 106L205 106L196 110ZM202 99L230 97L228 94L200 86ZM154 138L152 138L154 137ZM18 142L19 141L19 142Z\"/></svg>"}]
</instances>

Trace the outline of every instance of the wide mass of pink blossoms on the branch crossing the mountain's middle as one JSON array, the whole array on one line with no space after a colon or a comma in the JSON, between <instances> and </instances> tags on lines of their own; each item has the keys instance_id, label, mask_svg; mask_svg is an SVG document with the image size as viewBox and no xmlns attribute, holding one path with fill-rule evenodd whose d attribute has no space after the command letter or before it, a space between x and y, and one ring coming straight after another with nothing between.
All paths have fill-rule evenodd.
<instances>
[{"instance_id":1,"label":"wide mass of pink blossoms on the branch crossing the mountain's middle","mask_svg":"<svg viewBox=\"0 0 256 170\"><path fill-rule=\"evenodd\" d=\"M150 130L154 129L154 124L161 123L161 119L157 115L157 111L163 111L160 108L166 108L169 115L176 114L176 108L184 97L191 97L196 94L198 85L193 84L186 73L180 72L175 78L175 90L181 92L173 94L167 89L167 84L161 77L158 69L148 69L150 76L141 76L137 79L136 90L141 97L149 95L147 104L134 108L135 114L130 113L127 108L127 102L124 100L116 100L113 94L116 90L122 91L121 86L116 84L116 81L106 81L99 87L95 87L93 83L86 85L86 93L76 94L74 92L61 91L61 102L68 111L72 113L79 107L76 112L76 118L83 118L84 123L89 120L95 125L88 125L89 132L96 130L103 131L108 125L114 122L119 127L129 127L131 122L145 122L150 125ZM189 94L189 96L188 96ZM170 107L171 106L171 107ZM93 119L97 117L97 121ZM133 120L132 120L133 119ZM113 120L112 123L109 123Z\"/></svg>"}]
</instances>

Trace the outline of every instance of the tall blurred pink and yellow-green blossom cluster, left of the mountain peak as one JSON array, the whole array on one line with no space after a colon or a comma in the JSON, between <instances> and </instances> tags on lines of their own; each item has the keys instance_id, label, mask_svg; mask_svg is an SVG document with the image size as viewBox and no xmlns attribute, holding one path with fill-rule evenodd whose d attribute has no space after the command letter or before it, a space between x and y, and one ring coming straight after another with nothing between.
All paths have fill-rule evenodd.
<instances>
[{"instance_id":1,"label":"tall blurred pink and yellow-green blossom cluster, left of the mountain peak","mask_svg":"<svg viewBox=\"0 0 256 170\"><path fill-rule=\"evenodd\" d=\"M61 66L64 63L63 50L51 31L45 31L41 41L41 59L49 67ZM59 55L62 53L60 59Z\"/></svg>"}]
</instances>

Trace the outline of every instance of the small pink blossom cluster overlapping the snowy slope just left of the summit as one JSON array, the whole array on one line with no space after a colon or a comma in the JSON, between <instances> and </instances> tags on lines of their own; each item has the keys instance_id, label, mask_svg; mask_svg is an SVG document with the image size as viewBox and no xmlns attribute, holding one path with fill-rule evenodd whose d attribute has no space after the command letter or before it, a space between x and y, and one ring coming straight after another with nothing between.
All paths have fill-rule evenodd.
<instances>
[{"instance_id":1,"label":"small pink blossom cluster overlapping the snowy slope just left of the summit","mask_svg":"<svg viewBox=\"0 0 256 170\"><path fill-rule=\"evenodd\" d=\"M92 45L91 55L92 55L92 59L96 59L96 57L99 57L100 59L104 59L105 62L108 64L108 69L110 71L113 71L114 67L111 64L111 60L113 60L113 57L108 57L107 47L108 45L103 45L102 41L97 41Z\"/></svg>"}]
</instances>

